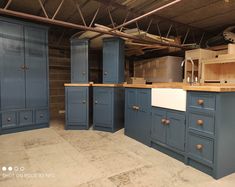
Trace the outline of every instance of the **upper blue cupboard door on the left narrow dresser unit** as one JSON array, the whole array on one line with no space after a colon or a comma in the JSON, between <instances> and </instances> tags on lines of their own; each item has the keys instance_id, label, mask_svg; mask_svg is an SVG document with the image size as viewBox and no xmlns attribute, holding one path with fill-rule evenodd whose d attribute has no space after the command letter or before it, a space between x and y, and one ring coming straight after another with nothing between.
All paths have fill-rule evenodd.
<instances>
[{"instance_id":1,"label":"upper blue cupboard door on the left narrow dresser unit","mask_svg":"<svg viewBox=\"0 0 235 187\"><path fill-rule=\"evenodd\" d=\"M72 40L71 41L71 82L88 83L89 75L89 41Z\"/></svg>"}]
</instances>

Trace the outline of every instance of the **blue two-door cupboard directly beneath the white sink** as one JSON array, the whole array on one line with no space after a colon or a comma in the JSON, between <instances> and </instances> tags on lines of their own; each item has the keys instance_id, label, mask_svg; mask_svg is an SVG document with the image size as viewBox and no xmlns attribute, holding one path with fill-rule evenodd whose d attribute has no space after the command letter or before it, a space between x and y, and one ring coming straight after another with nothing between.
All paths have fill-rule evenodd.
<instances>
[{"instance_id":1,"label":"blue two-door cupboard directly beneath the white sink","mask_svg":"<svg viewBox=\"0 0 235 187\"><path fill-rule=\"evenodd\" d=\"M152 107L151 143L181 154L185 151L185 113Z\"/></svg>"}]
</instances>

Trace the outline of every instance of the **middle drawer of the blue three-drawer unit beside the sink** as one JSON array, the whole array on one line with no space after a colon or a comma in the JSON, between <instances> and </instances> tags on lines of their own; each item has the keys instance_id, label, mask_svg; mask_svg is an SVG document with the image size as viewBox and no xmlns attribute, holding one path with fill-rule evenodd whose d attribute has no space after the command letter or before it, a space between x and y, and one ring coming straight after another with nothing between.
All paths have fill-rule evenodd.
<instances>
[{"instance_id":1,"label":"middle drawer of the blue three-drawer unit beside the sink","mask_svg":"<svg viewBox=\"0 0 235 187\"><path fill-rule=\"evenodd\" d=\"M213 115L189 112L189 129L214 135L215 119Z\"/></svg>"}]
</instances>

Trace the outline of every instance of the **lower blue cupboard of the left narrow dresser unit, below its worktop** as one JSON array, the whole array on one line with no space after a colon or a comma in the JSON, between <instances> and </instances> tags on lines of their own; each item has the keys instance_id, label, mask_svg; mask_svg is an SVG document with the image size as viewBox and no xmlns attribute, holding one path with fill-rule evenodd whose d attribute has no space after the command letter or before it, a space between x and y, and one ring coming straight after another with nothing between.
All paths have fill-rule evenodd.
<instances>
[{"instance_id":1,"label":"lower blue cupboard of the left narrow dresser unit, below its worktop","mask_svg":"<svg viewBox=\"0 0 235 187\"><path fill-rule=\"evenodd\" d=\"M89 128L89 87L67 86L65 129Z\"/></svg>"}]
</instances>

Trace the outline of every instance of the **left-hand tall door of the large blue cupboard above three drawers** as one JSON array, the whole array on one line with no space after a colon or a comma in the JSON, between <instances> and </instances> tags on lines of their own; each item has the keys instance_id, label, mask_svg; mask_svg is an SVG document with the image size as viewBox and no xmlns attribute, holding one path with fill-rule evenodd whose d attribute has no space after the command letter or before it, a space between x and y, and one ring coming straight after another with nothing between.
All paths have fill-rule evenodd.
<instances>
[{"instance_id":1,"label":"left-hand tall door of the large blue cupboard above three drawers","mask_svg":"<svg viewBox=\"0 0 235 187\"><path fill-rule=\"evenodd\" d=\"M1 110L25 107L23 27L0 22Z\"/></svg>"}]
</instances>

